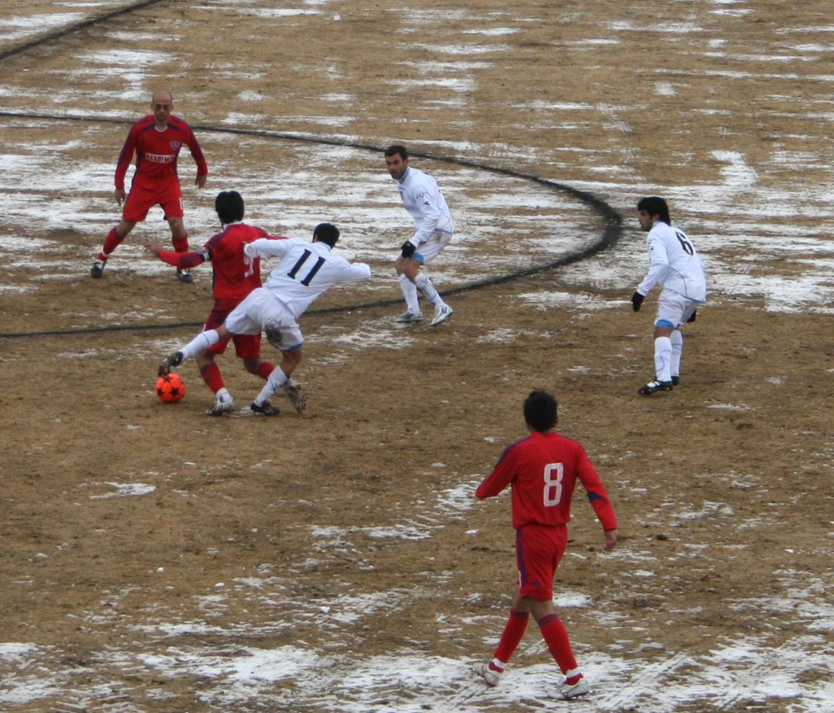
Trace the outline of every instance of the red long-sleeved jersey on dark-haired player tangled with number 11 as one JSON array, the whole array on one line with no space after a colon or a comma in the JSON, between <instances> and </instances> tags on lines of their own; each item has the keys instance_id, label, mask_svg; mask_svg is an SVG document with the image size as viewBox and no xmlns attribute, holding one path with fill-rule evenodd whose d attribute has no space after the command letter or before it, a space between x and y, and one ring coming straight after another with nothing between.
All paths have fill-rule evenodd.
<instances>
[{"instance_id":1,"label":"red long-sleeved jersey on dark-haired player tangled with number 11","mask_svg":"<svg viewBox=\"0 0 834 713\"><path fill-rule=\"evenodd\" d=\"M212 237L201 250L173 252L163 250L159 257L180 270L196 267L207 260L212 264L212 286L215 302L230 302L237 306L255 288L261 287L260 258L244 255L244 244L261 237L285 240L269 235L263 228L244 222L232 223Z\"/></svg>"}]
</instances>

